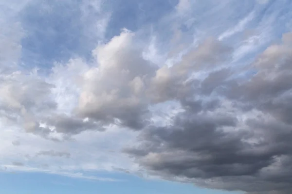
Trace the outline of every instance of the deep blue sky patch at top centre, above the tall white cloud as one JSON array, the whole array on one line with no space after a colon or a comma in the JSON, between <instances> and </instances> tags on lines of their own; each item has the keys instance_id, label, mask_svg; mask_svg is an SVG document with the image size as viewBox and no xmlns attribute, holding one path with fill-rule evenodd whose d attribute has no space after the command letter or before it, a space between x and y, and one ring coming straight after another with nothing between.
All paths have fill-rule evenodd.
<instances>
[{"instance_id":1,"label":"deep blue sky patch at top centre, above the tall white cloud","mask_svg":"<svg viewBox=\"0 0 292 194\"><path fill-rule=\"evenodd\" d=\"M112 15L106 37L127 28L136 32L145 26L159 25L159 21L174 9L179 0L113 0L110 3Z\"/></svg>"}]
</instances>

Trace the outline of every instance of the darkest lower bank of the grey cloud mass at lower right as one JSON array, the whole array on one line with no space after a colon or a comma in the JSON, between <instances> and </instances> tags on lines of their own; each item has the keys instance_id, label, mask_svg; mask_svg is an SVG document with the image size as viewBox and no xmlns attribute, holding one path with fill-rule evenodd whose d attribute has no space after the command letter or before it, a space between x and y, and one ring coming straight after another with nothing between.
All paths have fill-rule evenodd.
<instances>
[{"instance_id":1,"label":"darkest lower bank of the grey cloud mass at lower right","mask_svg":"<svg viewBox=\"0 0 292 194\"><path fill-rule=\"evenodd\" d=\"M139 140L143 143L126 152L166 179L187 178L204 187L246 192L287 190L292 178L291 127L274 122L240 123L230 115L186 112L168 127L145 130ZM244 124L247 129L240 129Z\"/></svg>"}]
</instances>

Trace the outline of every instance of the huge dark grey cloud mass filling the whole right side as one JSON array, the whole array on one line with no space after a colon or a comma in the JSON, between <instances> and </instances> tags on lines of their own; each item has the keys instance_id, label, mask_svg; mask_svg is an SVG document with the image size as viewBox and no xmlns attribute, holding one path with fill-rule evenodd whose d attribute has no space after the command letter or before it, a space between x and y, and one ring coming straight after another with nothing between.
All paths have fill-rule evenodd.
<instances>
[{"instance_id":1,"label":"huge dark grey cloud mass filling the whole right side","mask_svg":"<svg viewBox=\"0 0 292 194\"><path fill-rule=\"evenodd\" d=\"M248 194L291 193L289 37L259 55L244 78L231 69L209 73L180 99L184 112L164 127L145 128L138 145L124 151L165 179Z\"/></svg>"}]
</instances>

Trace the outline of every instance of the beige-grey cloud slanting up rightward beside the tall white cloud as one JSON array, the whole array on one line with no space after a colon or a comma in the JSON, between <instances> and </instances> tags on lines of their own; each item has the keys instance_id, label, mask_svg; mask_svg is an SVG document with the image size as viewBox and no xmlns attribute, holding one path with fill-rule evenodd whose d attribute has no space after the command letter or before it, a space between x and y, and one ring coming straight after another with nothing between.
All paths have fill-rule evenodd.
<instances>
[{"instance_id":1,"label":"beige-grey cloud slanting up rightward beside the tall white cloud","mask_svg":"<svg viewBox=\"0 0 292 194\"><path fill-rule=\"evenodd\" d=\"M151 79L149 88L149 97L153 103L164 102L168 100L185 100L197 92L211 92L216 88L214 82L208 81L211 77L217 79L215 84L220 84L219 79L224 81L228 77L228 69L222 69L216 73L217 77L211 75L206 78L203 84L204 91L197 91L200 80L189 77L198 70L209 71L211 67L218 68L224 60L228 59L232 49L222 42L213 38L207 38L202 41L197 48L183 55L182 61L171 67L163 66L156 71L156 75ZM219 75L221 73L221 75ZM211 84L213 84L211 86ZM209 90L209 91L207 91Z\"/></svg>"}]
</instances>

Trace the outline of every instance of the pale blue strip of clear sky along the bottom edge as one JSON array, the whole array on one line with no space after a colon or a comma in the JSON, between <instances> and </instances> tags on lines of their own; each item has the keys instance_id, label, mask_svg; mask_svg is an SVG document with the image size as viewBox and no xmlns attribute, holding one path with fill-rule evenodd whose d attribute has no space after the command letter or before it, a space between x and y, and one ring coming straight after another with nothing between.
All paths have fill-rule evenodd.
<instances>
[{"instance_id":1,"label":"pale blue strip of clear sky along the bottom edge","mask_svg":"<svg viewBox=\"0 0 292 194\"><path fill-rule=\"evenodd\" d=\"M191 184L111 174L125 181L107 182L39 173L0 173L5 194L241 194L196 188ZM17 187L15 184L17 183Z\"/></svg>"}]
</instances>

